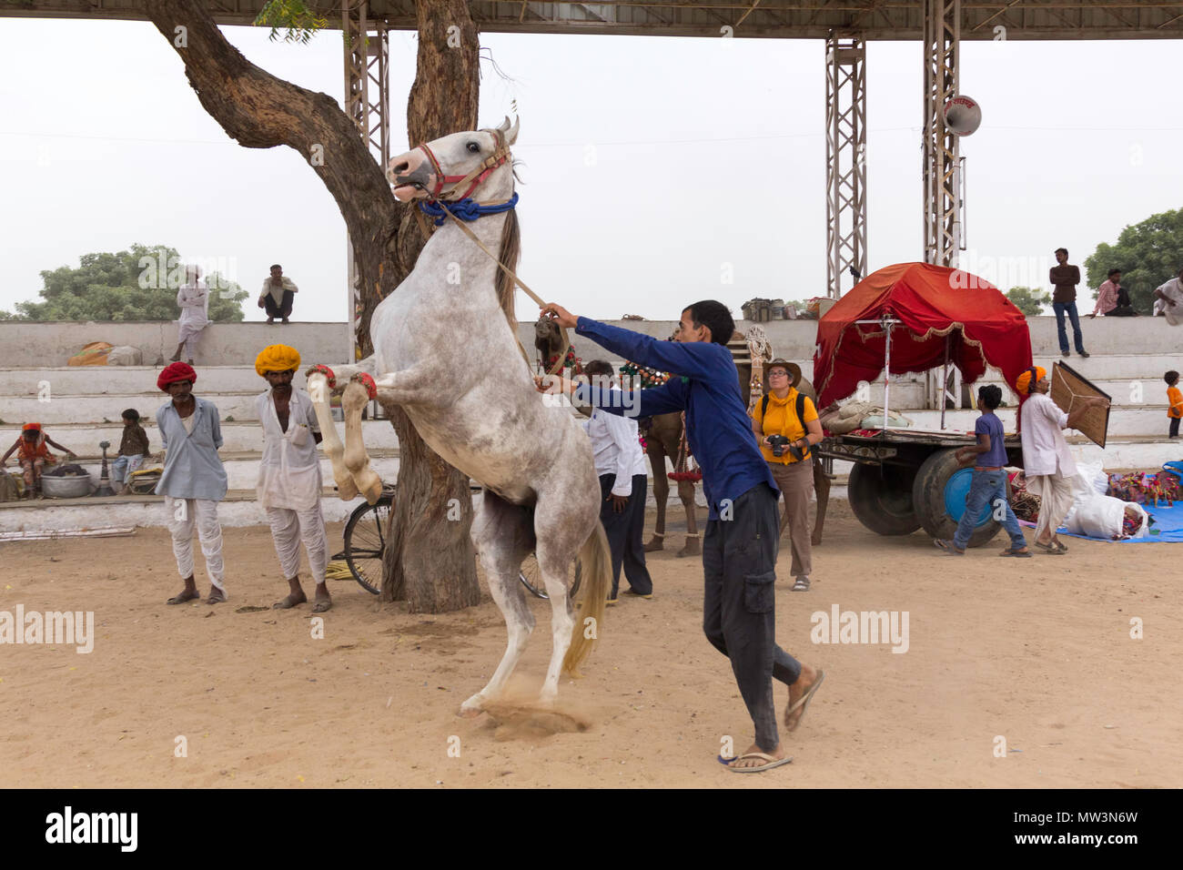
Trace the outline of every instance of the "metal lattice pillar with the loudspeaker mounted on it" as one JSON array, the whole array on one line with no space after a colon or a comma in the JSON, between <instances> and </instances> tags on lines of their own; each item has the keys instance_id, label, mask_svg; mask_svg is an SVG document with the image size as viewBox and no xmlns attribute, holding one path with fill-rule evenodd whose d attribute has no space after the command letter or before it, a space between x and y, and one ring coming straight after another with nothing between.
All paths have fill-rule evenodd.
<instances>
[{"instance_id":1,"label":"metal lattice pillar with the loudspeaker mounted on it","mask_svg":"<svg viewBox=\"0 0 1183 870\"><path fill-rule=\"evenodd\" d=\"M959 41L961 0L924 0L924 260L943 266L962 250L958 143L944 122Z\"/></svg>"}]
</instances>

